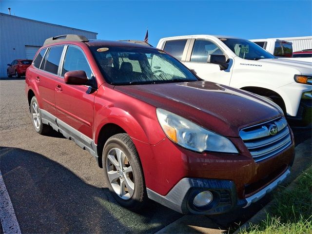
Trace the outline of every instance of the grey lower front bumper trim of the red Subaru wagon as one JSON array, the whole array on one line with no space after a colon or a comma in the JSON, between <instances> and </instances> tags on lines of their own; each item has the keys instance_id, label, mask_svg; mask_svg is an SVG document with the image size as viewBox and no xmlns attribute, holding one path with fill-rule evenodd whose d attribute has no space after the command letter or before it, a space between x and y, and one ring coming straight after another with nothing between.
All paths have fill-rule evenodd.
<instances>
[{"instance_id":1,"label":"grey lower front bumper trim of the red Subaru wagon","mask_svg":"<svg viewBox=\"0 0 312 234\"><path fill-rule=\"evenodd\" d=\"M165 196L147 188L147 195L150 199L182 214L215 215L227 213L239 207L248 207L270 193L289 175L290 167L259 192L244 199L237 197L233 181L202 178L183 178ZM213 201L205 207L196 207L193 204L194 197L207 190L214 195Z\"/></svg>"}]
</instances>

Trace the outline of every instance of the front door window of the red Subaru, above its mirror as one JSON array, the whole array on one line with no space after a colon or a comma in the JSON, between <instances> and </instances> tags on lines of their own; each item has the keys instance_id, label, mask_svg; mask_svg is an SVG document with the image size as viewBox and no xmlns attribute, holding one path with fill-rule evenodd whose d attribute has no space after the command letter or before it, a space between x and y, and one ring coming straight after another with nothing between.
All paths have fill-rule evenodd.
<instances>
[{"instance_id":1,"label":"front door window of the red Subaru, above its mirror","mask_svg":"<svg viewBox=\"0 0 312 234\"><path fill-rule=\"evenodd\" d=\"M91 79L93 76L84 53L77 47L68 46L62 69L62 76L68 71L77 70L85 71L88 79Z\"/></svg>"}]
</instances>

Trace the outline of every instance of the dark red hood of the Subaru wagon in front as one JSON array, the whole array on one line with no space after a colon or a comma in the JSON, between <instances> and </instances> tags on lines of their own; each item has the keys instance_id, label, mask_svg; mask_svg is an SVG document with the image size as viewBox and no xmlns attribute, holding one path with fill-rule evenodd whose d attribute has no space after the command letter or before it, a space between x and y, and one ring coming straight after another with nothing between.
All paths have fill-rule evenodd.
<instances>
[{"instance_id":1,"label":"dark red hood of the Subaru wagon in front","mask_svg":"<svg viewBox=\"0 0 312 234\"><path fill-rule=\"evenodd\" d=\"M281 115L272 104L254 94L209 81L115 89L227 137L238 137L241 128Z\"/></svg>"}]
</instances>

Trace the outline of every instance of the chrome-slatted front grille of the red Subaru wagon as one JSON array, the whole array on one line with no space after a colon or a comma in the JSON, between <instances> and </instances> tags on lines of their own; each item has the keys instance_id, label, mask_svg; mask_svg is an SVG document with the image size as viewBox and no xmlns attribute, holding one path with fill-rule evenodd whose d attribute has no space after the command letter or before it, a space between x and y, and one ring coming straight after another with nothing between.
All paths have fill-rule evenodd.
<instances>
[{"instance_id":1,"label":"chrome-slatted front grille of the red Subaru wagon","mask_svg":"<svg viewBox=\"0 0 312 234\"><path fill-rule=\"evenodd\" d=\"M271 135L270 130L272 133L274 126L277 127L278 132ZM255 162L272 157L292 144L290 131L284 117L244 128L239 131L239 136L249 149Z\"/></svg>"}]
</instances>

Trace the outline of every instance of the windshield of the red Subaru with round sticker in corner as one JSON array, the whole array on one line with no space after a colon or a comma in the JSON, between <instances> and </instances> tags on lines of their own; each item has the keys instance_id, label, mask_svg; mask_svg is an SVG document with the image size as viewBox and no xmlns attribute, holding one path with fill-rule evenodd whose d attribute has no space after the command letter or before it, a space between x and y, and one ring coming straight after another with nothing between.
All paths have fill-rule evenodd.
<instances>
[{"instance_id":1,"label":"windshield of the red Subaru with round sticker in corner","mask_svg":"<svg viewBox=\"0 0 312 234\"><path fill-rule=\"evenodd\" d=\"M179 61L156 49L91 46L104 78L114 85L196 81Z\"/></svg>"}]
</instances>

